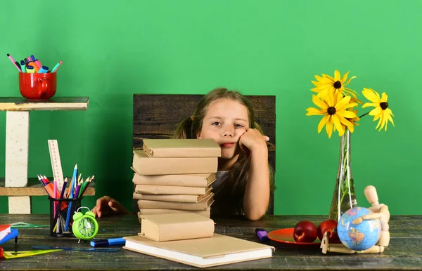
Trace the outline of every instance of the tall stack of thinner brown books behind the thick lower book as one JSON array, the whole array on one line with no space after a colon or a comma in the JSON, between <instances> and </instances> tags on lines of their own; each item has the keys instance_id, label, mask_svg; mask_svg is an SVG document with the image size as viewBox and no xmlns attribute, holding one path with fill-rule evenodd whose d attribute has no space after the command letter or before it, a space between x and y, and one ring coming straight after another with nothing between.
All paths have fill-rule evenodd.
<instances>
[{"instance_id":1,"label":"tall stack of thinner brown books behind the thick lower book","mask_svg":"<svg viewBox=\"0 0 422 271\"><path fill-rule=\"evenodd\" d=\"M218 157L221 148L212 139L144 139L132 164L139 216L188 212L210 218Z\"/></svg>"}]
</instances>

